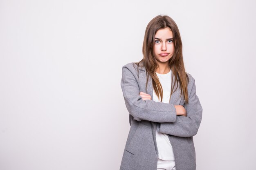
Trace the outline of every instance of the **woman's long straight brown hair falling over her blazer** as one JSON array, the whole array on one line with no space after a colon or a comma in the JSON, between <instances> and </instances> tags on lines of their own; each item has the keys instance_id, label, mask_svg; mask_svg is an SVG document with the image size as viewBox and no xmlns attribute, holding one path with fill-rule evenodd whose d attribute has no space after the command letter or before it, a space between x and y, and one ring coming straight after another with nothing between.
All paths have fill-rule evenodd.
<instances>
[{"instance_id":1,"label":"woman's long straight brown hair falling over her blazer","mask_svg":"<svg viewBox=\"0 0 256 170\"><path fill-rule=\"evenodd\" d=\"M171 71L173 72L173 75L175 77L174 86L176 83L179 85L181 93L180 97L183 94L185 102L188 103L189 97L188 97L188 91L187 91L187 82L189 80L188 75L185 72L184 68L184 62L182 57L182 41L180 38L180 31L176 25L176 23L167 15L158 15L155 18L153 18L147 25L145 35L144 35L144 42L142 47L142 53L143 53L143 59L139 62L136 62L139 70L139 65L141 62L141 66L145 66L146 68L146 75L147 75L147 82L146 87L148 86L148 74L152 77L152 84L154 91L157 95L157 97L161 98L161 102L163 99L163 89L159 82L159 79L155 73L156 68L158 67L156 58L154 56L154 40L155 40L155 34L159 29L164 29L169 27L171 31L173 32L173 43L174 43L174 54L169 60L168 64L171 68ZM138 72L139 73L139 72ZM173 82L173 76L171 77ZM174 91L174 86L171 87L171 95Z\"/></svg>"}]
</instances>

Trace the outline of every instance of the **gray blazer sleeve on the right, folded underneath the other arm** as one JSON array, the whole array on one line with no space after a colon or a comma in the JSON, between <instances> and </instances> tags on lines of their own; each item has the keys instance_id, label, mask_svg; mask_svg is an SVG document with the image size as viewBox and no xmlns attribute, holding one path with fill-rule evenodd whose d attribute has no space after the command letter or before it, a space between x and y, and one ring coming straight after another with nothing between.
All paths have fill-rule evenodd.
<instances>
[{"instance_id":1,"label":"gray blazer sleeve on the right, folded underneath the other arm","mask_svg":"<svg viewBox=\"0 0 256 170\"><path fill-rule=\"evenodd\" d=\"M160 123L159 132L179 137L191 137L197 134L203 109L195 93L195 79L192 76L190 76L190 79L192 80L192 89L189 95L189 103L184 105L187 116L177 116L173 123Z\"/></svg>"}]
</instances>

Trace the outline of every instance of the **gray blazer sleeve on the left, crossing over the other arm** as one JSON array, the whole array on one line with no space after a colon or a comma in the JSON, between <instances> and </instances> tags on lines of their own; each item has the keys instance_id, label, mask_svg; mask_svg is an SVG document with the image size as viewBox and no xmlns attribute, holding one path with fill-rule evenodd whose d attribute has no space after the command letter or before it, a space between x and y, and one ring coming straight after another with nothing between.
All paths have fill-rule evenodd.
<instances>
[{"instance_id":1,"label":"gray blazer sleeve on the left, crossing over the other arm","mask_svg":"<svg viewBox=\"0 0 256 170\"><path fill-rule=\"evenodd\" d=\"M128 67L126 65L122 68L121 88L126 108L130 115L137 121L175 122L177 116L174 105L153 100L143 100L139 95L137 71L133 66Z\"/></svg>"}]
</instances>

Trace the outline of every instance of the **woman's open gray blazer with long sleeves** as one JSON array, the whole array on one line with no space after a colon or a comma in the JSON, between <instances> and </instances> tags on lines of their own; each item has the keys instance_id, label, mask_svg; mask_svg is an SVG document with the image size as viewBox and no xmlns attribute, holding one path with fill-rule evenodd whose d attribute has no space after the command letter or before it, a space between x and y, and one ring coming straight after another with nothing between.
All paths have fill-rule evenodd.
<instances>
[{"instance_id":1,"label":"woman's open gray blazer with long sleeves","mask_svg":"<svg viewBox=\"0 0 256 170\"><path fill-rule=\"evenodd\" d=\"M184 104L183 95L179 97L180 88L172 94L169 103L155 102L150 77L147 93L152 100L143 100L139 95L141 91L146 93L145 68L139 67L139 77L137 65L134 63L126 64L122 69L121 88L126 108L130 113L130 131L120 170L157 169L158 150L155 130L168 134L173 146L176 170L195 170L193 136L197 134L202 119L202 106L195 94L195 79L187 73L189 75L189 104ZM187 116L177 116L174 105L183 105Z\"/></svg>"}]
</instances>

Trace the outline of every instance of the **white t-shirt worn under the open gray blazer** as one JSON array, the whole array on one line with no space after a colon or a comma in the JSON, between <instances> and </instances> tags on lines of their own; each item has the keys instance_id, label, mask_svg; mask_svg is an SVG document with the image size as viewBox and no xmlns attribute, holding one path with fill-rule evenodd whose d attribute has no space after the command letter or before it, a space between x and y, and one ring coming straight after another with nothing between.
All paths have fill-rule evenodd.
<instances>
[{"instance_id":1,"label":"white t-shirt worn under the open gray blazer","mask_svg":"<svg viewBox=\"0 0 256 170\"><path fill-rule=\"evenodd\" d=\"M156 74L163 88L162 102L169 103L171 94L171 70L166 74ZM153 91L153 99L155 102L160 102L157 95L155 94L155 91ZM165 161L175 160L173 147L171 146L171 142L168 136L165 133L158 132L157 130L155 135L157 141L158 158Z\"/></svg>"}]
</instances>

